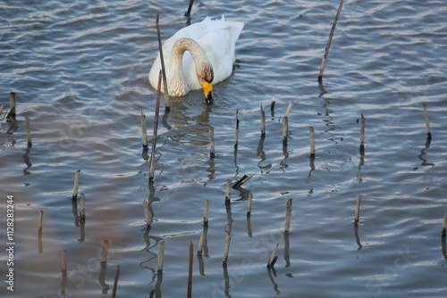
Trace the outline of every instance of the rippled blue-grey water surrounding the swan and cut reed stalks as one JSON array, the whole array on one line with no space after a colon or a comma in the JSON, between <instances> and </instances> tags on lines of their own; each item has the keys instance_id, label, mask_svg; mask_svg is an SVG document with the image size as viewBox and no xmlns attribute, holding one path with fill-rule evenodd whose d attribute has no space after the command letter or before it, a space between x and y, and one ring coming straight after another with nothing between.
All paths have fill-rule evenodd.
<instances>
[{"instance_id":1,"label":"rippled blue-grey water surrounding the swan and cut reed stalks","mask_svg":"<svg viewBox=\"0 0 447 298\"><path fill-rule=\"evenodd\" d=\"M443 1L345 1L317 75L338 1L6 1L0 4L1 247L14 195L14 292L2 297L105 297L120 265L119 297L186 295L188 245L197 249L210 200L207 250L194 255L193 297L445 297L446 46ZM161 109L156 178L148 186L140 112L152 134L155 14L164 39L206 16L244 21L231 78ZM275 102L274 113L269 110ZM283 146L283 113L290 137ZM427 142L422 103L433 139ZM266 137L260 137L260 105ZM236 112L240 145L233 148ZM1 117L4 117L4 113ZM366 151L358 151L364 114ZM25 116L33 145L27 148ZM163 118L163 119L162 119ZM163 121L162 121L163 120ZM308 128L316 130L309 160ZM209 158L208 129L215 130ZM150 153L150 150L149 150ZM80 170L86 222L71 200ZM254 174L232 190L227 179ZM250 218L248 194L253 195ZM360 223L353 224L357 195ZM293 199L291 233L283 233ZM143 200L154 222L145 228ZM74 205L76 206L76 205ZM42 252L38 213L44 211ZM225 230L232 242L222 266ZM109 242L106 268L99 263ZM156 277L164 240L163 279ZM266 261L279 244L274 270ZM201 268L200 268L201 266Z\"/></svg>"}]
</instances>

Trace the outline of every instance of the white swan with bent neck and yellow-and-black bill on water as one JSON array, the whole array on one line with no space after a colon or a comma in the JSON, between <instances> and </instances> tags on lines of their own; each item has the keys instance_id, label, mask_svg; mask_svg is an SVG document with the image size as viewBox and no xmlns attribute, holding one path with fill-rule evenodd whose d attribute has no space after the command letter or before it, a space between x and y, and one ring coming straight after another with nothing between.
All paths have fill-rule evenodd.
<instances>
[{"instance_id":1,"label":"white swan with bent neck and yellow-and-black bill on water","mask_svg":"<svg viewBox=\"0 0 447 298\"><path fill-rule=\"evenodd\" d=\"M211 20L178 30L164 42L163 55L167 88L170 96L183 96L190 90L203 88L205 98L213 98L213 84L232 74L236 41L244 23ZM149 83L158 86L161 70L160 54L149 72ZM164 87L162 84L162 92Z\"/></svg>"}]
</instances>

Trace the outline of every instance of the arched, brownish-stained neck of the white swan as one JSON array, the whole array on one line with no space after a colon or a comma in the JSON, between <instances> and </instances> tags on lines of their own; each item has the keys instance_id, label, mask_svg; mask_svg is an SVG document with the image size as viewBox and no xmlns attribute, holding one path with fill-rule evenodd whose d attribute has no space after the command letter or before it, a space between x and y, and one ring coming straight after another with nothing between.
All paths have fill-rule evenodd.
<instances>
[{"instance_id":1,"label":"arched, brownish-stained neck of the white swan","mask_svg":"<svg viewBox=\"0 0 447 298\"><path fill-rule=\"evenodd\" d=\"M172 96L181 96L186 95L190 92L190 87L186 82L184 73L183 73L183 54L188 51L190 52L194 64L196 67L196 73L198 77L201 76L202 73L211 72L211 81L213 69L211 63L207 59L207 55L204 50L198 45L198 43L188 37L181 38L175 42L173 45L173 50L171 52L171 78L168 79L169 82L169 95ZM199 84L202 84L202 78L198 78Z\"/></svg>"}]
</instances>

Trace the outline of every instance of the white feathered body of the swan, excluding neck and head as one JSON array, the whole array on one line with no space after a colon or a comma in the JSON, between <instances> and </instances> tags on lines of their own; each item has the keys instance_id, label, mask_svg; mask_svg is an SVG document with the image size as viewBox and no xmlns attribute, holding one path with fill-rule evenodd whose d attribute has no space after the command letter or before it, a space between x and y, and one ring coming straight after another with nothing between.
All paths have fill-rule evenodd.
<instances>
[{"instance_id":1,"label":"white feathered body of the swan, excluding neck and head","mask_svg":"<svg viewBox=\"0 0 447 298\"><path fill-rule=\"evenodd\" d=\"M234 52L236 41L244 23L240 21L211 20L207 17L204 21L194 23L180 29L172 37L167 39L163 45L164 64L166 77L169 83L170 57L173 45L182 37L190 37L198 42L207 54L207 58L213 66L215 78L213 83L218 83L232 74L232 65L235 61ZM198 83L194 62L190 53L183 55L183 73L190 90L201 88ZM161 69L160 55L157 54L156 61L149 72L149 82L156 88L158 71ZM169 87L168 87L169 89Z\"/></svg>"}]
</instances>

